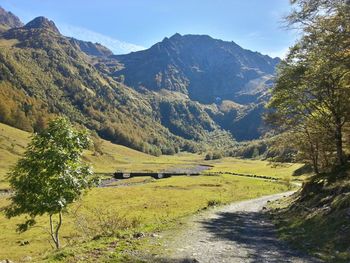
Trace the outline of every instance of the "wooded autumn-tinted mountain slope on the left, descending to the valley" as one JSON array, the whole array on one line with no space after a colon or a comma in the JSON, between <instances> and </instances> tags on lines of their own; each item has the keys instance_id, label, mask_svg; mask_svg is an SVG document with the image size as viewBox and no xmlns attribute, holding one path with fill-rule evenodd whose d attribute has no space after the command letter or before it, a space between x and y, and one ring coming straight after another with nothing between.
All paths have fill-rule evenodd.
<instances>
[{"instance_id":1,"label":"wooded autumn-tinted mountain slope on the left, descending to the valley","mask_svg":"<svg viewBox=\"0 0 350 263\"><path fill-rule=\"evenodd\" d=\"M55 28L37 18L1 34L1 122L32 131L64 114L105 139L156 155L196 151L211 133L226 134L191 101L179 100L178 115L164 121L159 109L167 99L116 82Z\"/></svg>"}]
</instances>

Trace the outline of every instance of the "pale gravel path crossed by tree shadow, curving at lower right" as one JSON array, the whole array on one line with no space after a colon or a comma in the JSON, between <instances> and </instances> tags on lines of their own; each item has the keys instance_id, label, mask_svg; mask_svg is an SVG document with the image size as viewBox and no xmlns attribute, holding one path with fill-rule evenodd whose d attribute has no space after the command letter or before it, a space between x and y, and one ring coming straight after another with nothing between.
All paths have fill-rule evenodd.
<instances>
[{"instance_id":1,"label":"pale gravel path crossed by tree shadow, curving at lower right","mask_svg":"<svg viewBox=\"0 0 350 263\"><path fill-rule=\"evenodd\" d=\"M293 251L276 237L263 213L268 200L292 192L237 202L197 215L191 228L181 231L171 243L174 262L320 262Z\"/></svg>"}]
</instances>

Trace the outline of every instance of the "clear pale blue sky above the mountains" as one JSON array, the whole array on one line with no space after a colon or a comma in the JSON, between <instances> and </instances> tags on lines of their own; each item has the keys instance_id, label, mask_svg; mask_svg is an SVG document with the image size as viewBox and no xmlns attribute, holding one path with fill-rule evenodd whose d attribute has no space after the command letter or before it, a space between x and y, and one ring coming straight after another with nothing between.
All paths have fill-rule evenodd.
<instances>
[{"instance_id":1,"label":"clear pale blue sky above the mountains","mask_svg":"<svg viewBox=\"0 0 350 263\"><path fill-rule=\"evenodd\" d=\"M283 57L297 34L285 29L289 0L0 0L24 23L53 20L63 35L101 43L115 54L180 34L206 34Z\"/></svg>"}]
</instances>

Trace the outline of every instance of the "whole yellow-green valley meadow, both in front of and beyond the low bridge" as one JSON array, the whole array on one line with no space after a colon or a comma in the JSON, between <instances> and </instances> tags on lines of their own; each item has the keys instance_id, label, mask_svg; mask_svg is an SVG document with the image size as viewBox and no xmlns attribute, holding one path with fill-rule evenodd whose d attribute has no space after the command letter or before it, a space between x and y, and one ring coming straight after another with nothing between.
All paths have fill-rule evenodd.
<instances>
[{"instance_id":1,"label":"whole yellow-green valley meadow, both in front of and beyond the low bridge","mask_svg":"<svg viewBox=\"0 0 350 263\"><path fill-rule=\"evenodd\" d=\"M0 124L0 180L7 188L4 175L21 155L29 134ZM126 147L102 143L103 155L86 153L95 171L110 173L115 170L160 170L169 167L193 166L203 163L203 156L180 154L153 157ZM214 171L257 173L290 178L298 165L272 167L267 162L225 158L212 164ZM250 167L250 169L249 169ZM134 179L130 179L131 181ZM0 214L0 260L23 260L30 256L35 261L63 260L84 262L117 260L128 257L130 250L151 250L135 233L161 231L178 224L187 216L210 204L254 198L288 189L288 185L232 175L173 177L164 180L145 180L145 184L117 188L94 188L64 216L62 239L65 248L54 255L44 232L47 218L38 219L38 227L26 233L15 232L23 218L8 220ZM0 209L8 204L7 196L0 195ZM82 227L82 228L81 228ZM82 229L84 229L82 231ZM108 236L109 237L105 237ZM147 238L146 238L147 239ZM151 252L149 252L151 253ZM154 253L154 252L152 252Z\"/></svg>"}]
</instances>

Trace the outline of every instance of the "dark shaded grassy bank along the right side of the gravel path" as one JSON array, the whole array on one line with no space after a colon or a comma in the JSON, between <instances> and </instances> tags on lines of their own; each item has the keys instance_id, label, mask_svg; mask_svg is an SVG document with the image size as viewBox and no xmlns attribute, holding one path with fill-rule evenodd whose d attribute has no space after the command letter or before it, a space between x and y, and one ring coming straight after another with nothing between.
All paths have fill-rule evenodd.
<instances>
[{"instance_id":1,"label":"dark shaded grassy bank along the right side of the gravel path","mask_svg":"<svg viewBox=\"0 0 350 263\"><path fill-rule=\"evenodd\" d=\"M272 204L280 237L325 262L350 262L350 169L311 178Z\"/></svg>"}]
</instances>

